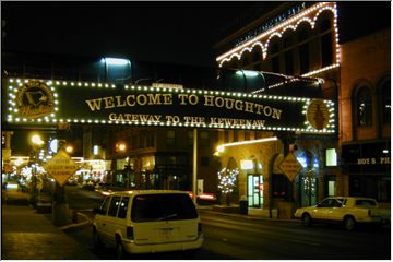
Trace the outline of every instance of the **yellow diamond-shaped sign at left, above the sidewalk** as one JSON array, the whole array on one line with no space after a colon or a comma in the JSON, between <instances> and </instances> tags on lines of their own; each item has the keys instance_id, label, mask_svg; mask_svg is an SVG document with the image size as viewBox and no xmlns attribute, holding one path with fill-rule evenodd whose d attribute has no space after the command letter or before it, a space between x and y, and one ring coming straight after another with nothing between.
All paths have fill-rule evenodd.
<instances>
[{"instance_id":1,"label":"yellow diamond-shaped sign at left, above the sidewalk","mask_svg":"<svg viewBox=\"0 0 393 262\"><path fill-rule=\"evenodd\" d=\"M60 150L44 165L44 169L62 187L75 174L78 165L66 151Z\"/></svg>"}]
</instances>

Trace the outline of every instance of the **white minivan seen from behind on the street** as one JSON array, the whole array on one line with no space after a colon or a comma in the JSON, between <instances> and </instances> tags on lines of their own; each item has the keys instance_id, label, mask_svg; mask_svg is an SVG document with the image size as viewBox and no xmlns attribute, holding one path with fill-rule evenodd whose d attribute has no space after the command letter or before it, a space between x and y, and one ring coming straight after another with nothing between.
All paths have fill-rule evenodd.
<instances>
[{"instance_id":1,"label":"white minivan seen from behind on the street","mask_svg":"<svg viewBox=\"0 0 393 262\"><path fill-rule=\"evenodd\" d=\"M187 192L135 190L112 192L94 210L93 241L127 253L192 251L203 242L199 214Z\"/></svg>"}]
</instances>

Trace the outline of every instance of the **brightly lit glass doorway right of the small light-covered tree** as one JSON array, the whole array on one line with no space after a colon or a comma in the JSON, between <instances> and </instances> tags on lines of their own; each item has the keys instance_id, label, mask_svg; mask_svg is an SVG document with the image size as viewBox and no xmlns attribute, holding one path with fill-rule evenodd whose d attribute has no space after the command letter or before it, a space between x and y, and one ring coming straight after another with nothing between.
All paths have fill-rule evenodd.
<instances>
[{"instance_id":1,"label":"brightly lit glass doorway right of the small light-covered tree","mask_svg":"<svg viewBox=\"0 0 393 262\"><path fill-rule=\"evenodd\" d=\"M250 207L263 207L263 176L248 175L247 200Z\"/></svg>"}]
</instances>

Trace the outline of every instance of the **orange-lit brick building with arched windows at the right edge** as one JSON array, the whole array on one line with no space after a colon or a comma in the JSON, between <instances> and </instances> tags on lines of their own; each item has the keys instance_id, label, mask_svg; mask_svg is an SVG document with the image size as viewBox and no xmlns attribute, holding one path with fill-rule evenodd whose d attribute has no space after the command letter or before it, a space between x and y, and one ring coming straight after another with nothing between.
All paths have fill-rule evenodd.
<instances>
[{"instance_id":1,"label":"orange-lit brick building with arched windows at the right edge","mask_svg":"<svg viewBox=\"0 0 393 262\"><path fill-rule=\"evenodd\" d=\"M340 119L348 195L391 199L391 32L342 45Z\"/></svg>"}]
</instances>

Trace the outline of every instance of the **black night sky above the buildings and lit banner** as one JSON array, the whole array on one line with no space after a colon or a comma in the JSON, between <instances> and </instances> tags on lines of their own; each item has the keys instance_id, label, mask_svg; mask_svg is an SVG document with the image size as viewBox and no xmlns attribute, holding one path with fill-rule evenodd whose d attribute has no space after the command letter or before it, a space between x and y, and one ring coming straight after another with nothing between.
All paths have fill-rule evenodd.
<instances>
[{"instance_id":1,"label":"black night sky above the buildings and lit banner","mask_svg":"<svg viewBox=\"0 0 393 262\"><path fill-rule=\"evenodd\" d=\"M8 51L128 56L141 61L216 66L213 46L283 2L1 2ZM341 40L390 26L390 1L343 1Z\"/></svg>"}]
</instances>

